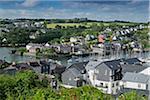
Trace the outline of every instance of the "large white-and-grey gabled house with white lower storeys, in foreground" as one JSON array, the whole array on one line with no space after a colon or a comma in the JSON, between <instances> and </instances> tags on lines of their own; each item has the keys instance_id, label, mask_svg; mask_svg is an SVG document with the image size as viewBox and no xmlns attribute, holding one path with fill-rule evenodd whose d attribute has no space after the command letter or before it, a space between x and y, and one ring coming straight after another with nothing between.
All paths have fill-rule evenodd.
<instances>
[{"instance_id":1,"label":"large white-and-grey gabled house with white lower storeys, in foreground","mask_svg":"<svg viewBox=\"0 0 150 100\"><path fill-rule=\"evenodd\" d=\"M117 94L122 79L120 60L92 63L86 66L91 84L105 93Z\"/></svg>"}]
</instances>

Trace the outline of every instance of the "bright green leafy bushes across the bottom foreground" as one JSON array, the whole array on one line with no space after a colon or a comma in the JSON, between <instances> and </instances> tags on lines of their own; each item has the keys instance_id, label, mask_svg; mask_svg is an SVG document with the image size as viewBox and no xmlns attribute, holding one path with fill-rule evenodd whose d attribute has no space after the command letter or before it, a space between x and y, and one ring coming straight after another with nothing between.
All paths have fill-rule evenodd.
<instances>
[{"instance_id":1,"label":"bright green leafy bushes across the bottom foreground","mask_svg":"<svg viewBox=\"0 0 150 100\"><path fill-rule=\"evenodd\" d=\"M39 79L32 71L21 71L15 76L0 75L0 100L115 100L91 86L54 90L49 81L45 77ZM147 99L133 91L122 94L119 100Z\"/></svg>"}]
</instances>

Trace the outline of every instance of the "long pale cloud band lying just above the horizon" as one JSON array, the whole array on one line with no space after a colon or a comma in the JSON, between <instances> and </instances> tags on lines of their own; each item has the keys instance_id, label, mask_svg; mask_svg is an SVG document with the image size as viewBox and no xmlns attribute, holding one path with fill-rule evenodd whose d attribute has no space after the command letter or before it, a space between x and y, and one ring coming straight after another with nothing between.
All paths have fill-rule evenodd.
<instances>
[{"instance_id":1,"label":"long pale cloud band lying just above the horizon","mask_svg":"<svg viewBox=\"0 0 150 100\"><path fill-rule=\"evenodd\" d=\"M118 7L121 9L120 7ZM53 7L47 9L2 9L0 8L1 18L84 18L97 19L97 20L131 20L131 21L145 21L146 15L133 12L107 12L113 9L109 6L101 6L97 11L72 11L72 9L55 9ZM128 15L128 16L126 16ZM140 16L140 17L139 17ZM133 20L134 19L134 20Z\"/></svg>"}]
</instances>

